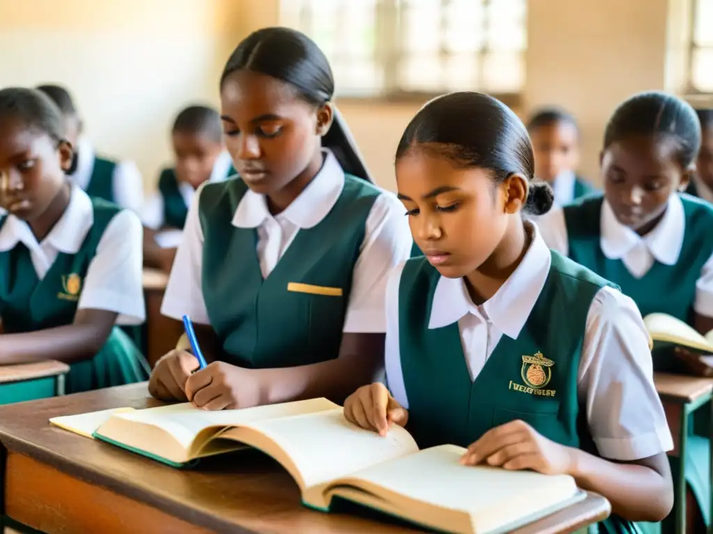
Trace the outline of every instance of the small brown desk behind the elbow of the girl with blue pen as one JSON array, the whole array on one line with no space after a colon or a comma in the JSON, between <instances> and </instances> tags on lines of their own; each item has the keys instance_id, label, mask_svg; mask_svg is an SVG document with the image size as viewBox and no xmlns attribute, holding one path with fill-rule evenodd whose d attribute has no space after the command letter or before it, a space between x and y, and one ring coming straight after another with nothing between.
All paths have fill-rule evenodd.
<instances>
[{"instance_id":1,"label":"small brown desk behind the elbow of the girl with blue pen","mask_svg":"<svg viewBox=\"0 0 713 534\"><path fill-rule=\"evenodd\" d=\"M146 359L153 368L158 359L173 349L183 327L178 321L161 315L161 302L168 275L158 269L143 270L143 292L146 300Z\"/></svg>"}]
</instances>

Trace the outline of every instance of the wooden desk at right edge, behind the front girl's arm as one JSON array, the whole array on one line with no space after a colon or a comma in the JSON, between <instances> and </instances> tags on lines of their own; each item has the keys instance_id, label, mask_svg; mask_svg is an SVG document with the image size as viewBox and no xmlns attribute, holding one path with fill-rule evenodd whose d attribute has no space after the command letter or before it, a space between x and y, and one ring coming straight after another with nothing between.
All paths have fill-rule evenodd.
<instances>
[{"instance_id":1,"label":"wooden desk at right edge, behind the front girl's arm","mask_svg":"<svg viewBox=\"0 0 713 534\"><path fill-rule=\"evenodd\" d=\"M672 454L678 456L680 462L678 480L674 481L678 495L675 504L676 532L686 532L685 453L688 436L688 418L690 414L704 404L712 402L713 379L654 373L654 384L661 398L661 402L664 404L666 419L671 429L671 434L674 436L674 450ZM713 422L711 428L713 429ZM711 448L710 468L710 483L713 484L713 447ZM713 493L712 501L709 506L713 514ZM709 532L713 532L713 528L709 529Z\"/></svg>"}]
</instances>

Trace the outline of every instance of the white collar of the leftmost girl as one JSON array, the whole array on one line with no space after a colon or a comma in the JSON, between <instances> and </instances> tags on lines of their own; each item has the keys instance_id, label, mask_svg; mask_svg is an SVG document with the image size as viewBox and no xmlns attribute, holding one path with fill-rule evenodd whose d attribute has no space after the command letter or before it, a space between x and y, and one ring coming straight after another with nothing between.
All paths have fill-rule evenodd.
<instances>
[{"instance_id":1,"label":"white collar of the leftmost girl","mask_svg":"<svg viewBox=\"0 0 713 534\"><path fill-rule=\"evenodd\" d=\"M50 244L57 251L66 254L76 254L93 224L94 209L91 200L75 185L72 187L67 208L42 240L42 244ZM14 215L9 215L0 229L0 252L11 250L19 242L31 250L39 248L40 245L32 234L29 224Z\"/></svg>"}]
</instances>

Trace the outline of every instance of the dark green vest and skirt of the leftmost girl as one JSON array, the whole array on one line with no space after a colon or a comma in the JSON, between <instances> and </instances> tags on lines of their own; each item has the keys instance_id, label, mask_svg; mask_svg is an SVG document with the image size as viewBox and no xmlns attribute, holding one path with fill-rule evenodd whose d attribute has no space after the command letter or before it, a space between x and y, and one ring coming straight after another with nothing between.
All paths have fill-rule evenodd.
<instances>
[{"instance_id":1,"label":"dark green vest and skirt of the leftmost girl","mask_svg":"<svg viewBox=\"0 0 713 534\"><path fill-rule=\"evenodd\" d=\"M89 263L96 256L101 236L119 208L101 199L92 199L94 224L76 254L59 253L46 276L39 280L29 249L17 244L0 252L0 316L6 333L27 333L71 324L81 297ZM0 219L0 229L6 218ZM66 376L66 392L74 393L140 382L148 377L143 356L127 335L113 328L98 354L71 364ZM37 384L0 387L0 403L11 394L16 400L37 398ZM18 390L19 388L19 390Z\"/></svg>"}]
</instances>

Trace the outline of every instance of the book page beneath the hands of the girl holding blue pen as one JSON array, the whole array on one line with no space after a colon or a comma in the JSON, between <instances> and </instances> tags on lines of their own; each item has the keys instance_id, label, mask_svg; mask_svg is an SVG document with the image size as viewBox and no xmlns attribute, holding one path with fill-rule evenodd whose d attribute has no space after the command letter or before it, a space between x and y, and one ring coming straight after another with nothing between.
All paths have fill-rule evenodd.
<instances>
[{"instance_id":1,"label":"book page beneath the hands of the girl holding blue pen","mask_svg":"<svg viewBox=\"0 0 713 534\"><path fill-rule=\"evenodd\" d=\"M118 414L116 417L156 426L168 432L181 446L188 450L195 436L210 427L240 425L273 417L289 417L296 414L334 409L336 406L337 404L327 399L309 399L282 404L267 404L254 408L209 412L196 408L190 402L184 402L158 408L135 410L126 414Z\"/></svg>"}]
</instances>

